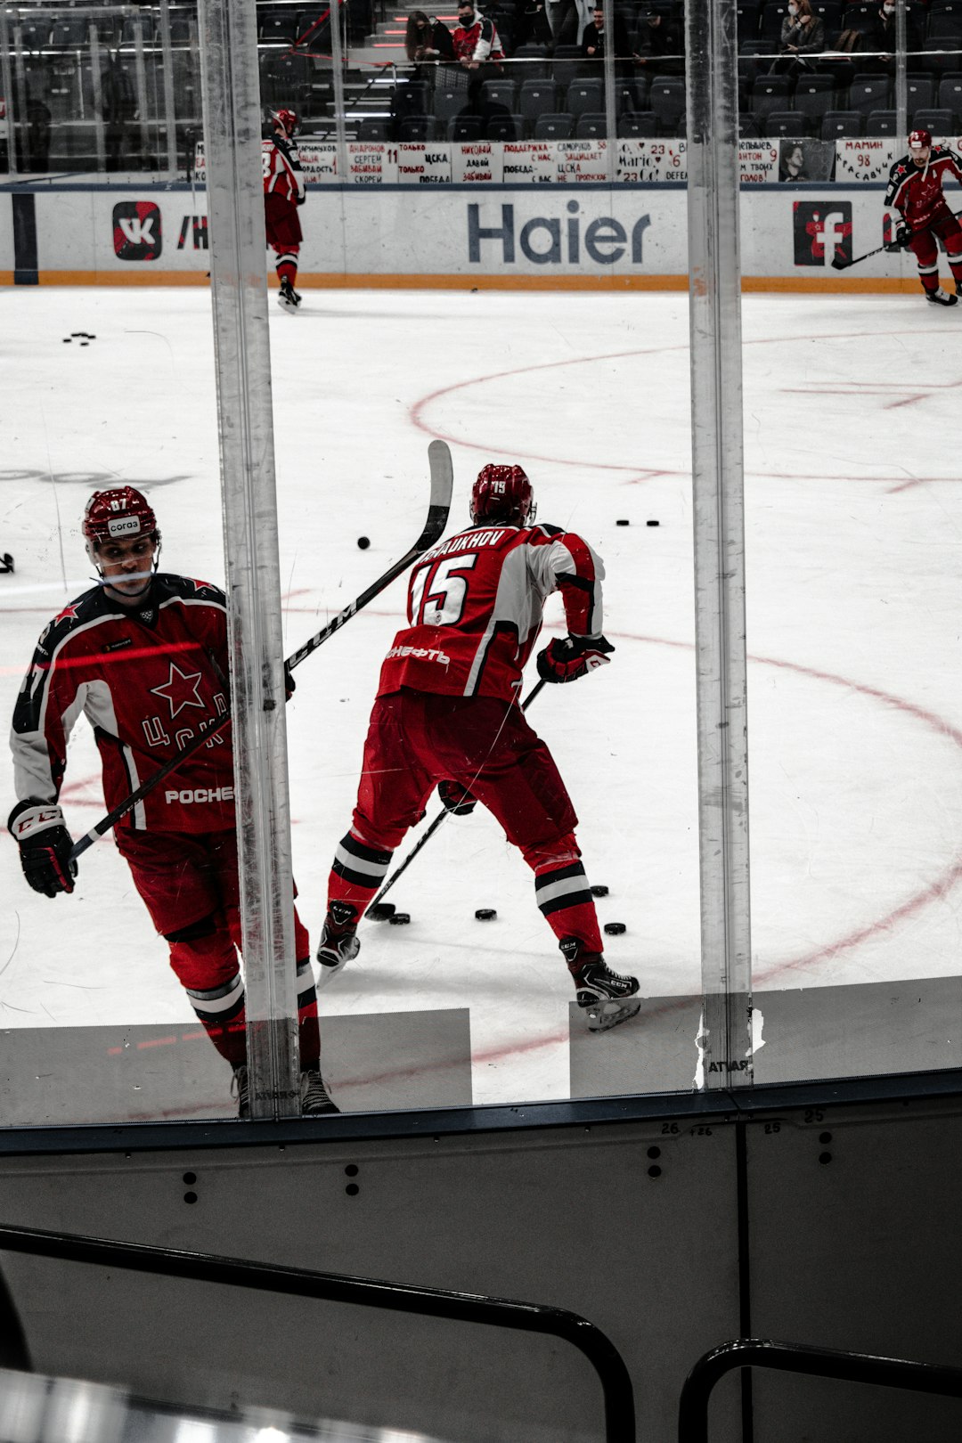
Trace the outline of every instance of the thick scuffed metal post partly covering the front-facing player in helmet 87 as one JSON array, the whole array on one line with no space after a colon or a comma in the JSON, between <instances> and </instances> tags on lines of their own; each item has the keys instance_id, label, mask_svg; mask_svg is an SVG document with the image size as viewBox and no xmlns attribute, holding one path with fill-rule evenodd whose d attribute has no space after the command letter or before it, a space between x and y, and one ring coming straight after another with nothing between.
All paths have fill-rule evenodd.
<instances>
[{"instance_id":1,"label":"thick scuffed metal post partly covering the front-facing player in helmet 87","mask_svg":"<svg viewBox=\"0 0 962 1443\"><path fill-rule=\"evenodd\" d=\"M255 0L200 0L251 1115L300 1111Z\"/></svg>"}]
</instances>

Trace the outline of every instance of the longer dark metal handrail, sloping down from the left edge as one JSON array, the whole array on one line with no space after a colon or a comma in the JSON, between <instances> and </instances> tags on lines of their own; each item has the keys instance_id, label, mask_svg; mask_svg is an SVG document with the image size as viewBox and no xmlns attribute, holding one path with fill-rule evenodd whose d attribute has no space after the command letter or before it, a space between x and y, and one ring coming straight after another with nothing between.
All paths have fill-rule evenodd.
<instances>
[{"instance_id":1,"label":"longer dark metal handrail, sloping down from the left edge","mask_svg":"<svg viewBox=\"0 0 962 1443\"><path fill-rule=\"evenodd\" d=\"M490 1323L526 1333L548 1333L573 1343L591 1364L604 1394L606 1443L635 1443L635 1391L625 1359L606 1335L577 1313L541 1303L518 1303L506 1297L453 1293L438 1287L411 1287L345 1273L248 1263L208 1253L183 1253L143 1242L115 1242L40 1228L0 1227L0 1251L61 1258L66 1263L95 1263L107 1267L186 1277L203 1283L226 1283L261 1293L359 1303L427 1317L450 1317L467 1323Z\"/></svg>"}]
</instances>

